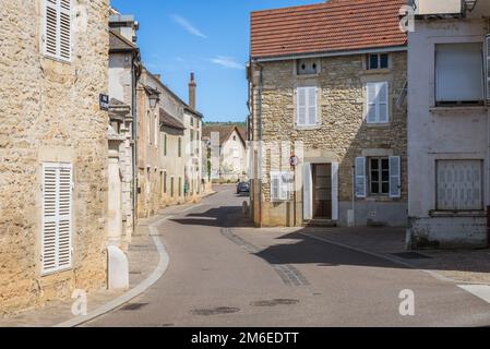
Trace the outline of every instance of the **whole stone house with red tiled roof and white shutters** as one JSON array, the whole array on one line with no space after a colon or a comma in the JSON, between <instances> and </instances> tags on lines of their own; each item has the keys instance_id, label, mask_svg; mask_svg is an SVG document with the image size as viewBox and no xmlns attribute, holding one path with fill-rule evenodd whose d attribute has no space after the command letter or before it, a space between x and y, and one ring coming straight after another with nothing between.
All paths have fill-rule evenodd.
<instances>
[{"instance_id":1,"label":"whole stone house with red tiled roof and white shutters","mask_svg":"<svg viewBox=\"0 0 490 349\"><path fill-rule=\"evenodd\" d=\"M331 0L252 13L258 226L406 224L405 4Z\"/></svg>"}]
</instances>

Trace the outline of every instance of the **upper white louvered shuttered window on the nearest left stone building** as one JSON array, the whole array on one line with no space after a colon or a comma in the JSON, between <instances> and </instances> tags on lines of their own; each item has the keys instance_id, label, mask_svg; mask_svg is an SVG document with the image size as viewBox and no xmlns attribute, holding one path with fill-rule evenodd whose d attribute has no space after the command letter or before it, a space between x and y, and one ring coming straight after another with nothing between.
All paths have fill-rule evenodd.
<instances>
[{"instance_id":1,"label":"upper white louvered shuttered window on the nearest left stone building","mask_svg":"<svg viewBox=\"0 0 490 349\"><path fill-rule=\"evenodd\" d=\"M71 0L45 0L45 55L71 60Z\"/></svg>"}]
</instances>

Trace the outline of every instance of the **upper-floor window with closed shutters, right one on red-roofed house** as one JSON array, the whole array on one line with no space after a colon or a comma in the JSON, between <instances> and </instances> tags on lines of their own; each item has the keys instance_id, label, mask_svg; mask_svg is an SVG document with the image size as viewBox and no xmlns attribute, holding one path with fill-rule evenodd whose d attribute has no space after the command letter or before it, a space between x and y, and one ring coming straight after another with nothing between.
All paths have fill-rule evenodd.
<instances>
[{"instance_id":1,"label":"upper-floor window with closed shutters, right one on red-roofed house","mask_svg":"<svg viewBox=\"0 0 490 349\"><path fill-rule=\"evenodd\" d=\"M390 121L390 88L387 82L366 84L367 122L386 123Z\"/></svg>"}]
</instances>

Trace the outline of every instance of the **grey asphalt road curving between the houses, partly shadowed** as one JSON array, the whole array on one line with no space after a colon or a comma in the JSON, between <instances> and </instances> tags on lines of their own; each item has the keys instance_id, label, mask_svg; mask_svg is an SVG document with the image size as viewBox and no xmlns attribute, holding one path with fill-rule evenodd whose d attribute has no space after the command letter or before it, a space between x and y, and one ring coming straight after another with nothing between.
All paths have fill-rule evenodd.
<instances>
[{"instance_id":1,"label":"grey asphalt road curving between the houses, partly shadowed","mask_svg":"<svg viewBox=\"0 0 490 349\"><path fill-rule=\"evenodd\" d=\"M84 326L486 326L457 285L287 229L251 228L231 186L159 227L170 255L147 292ZM415 296L403 316L401 291Z\"/></svg>"}]
</instances>

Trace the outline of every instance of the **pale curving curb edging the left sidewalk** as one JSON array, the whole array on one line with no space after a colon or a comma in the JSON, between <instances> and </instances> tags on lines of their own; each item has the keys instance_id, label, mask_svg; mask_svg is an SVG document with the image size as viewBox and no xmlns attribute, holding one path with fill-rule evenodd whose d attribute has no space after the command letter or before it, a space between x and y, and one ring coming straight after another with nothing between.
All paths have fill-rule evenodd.
<instances>
[{"instance_id":1,"label":"pale curving curb edging the left sidewalk","mask_svg":"<svg viewBox=\"0 0 490 349\"><path fill-rule=\"evenodd\" d=\"M162 242L160 237L158 236L157 226L159 226L165 220L171 218L171 216L162 218L157 220L154 224L150 225L150 232L151 237L153 238L153 242L155 243L158 254L160 256L160 260L158 262L158 266L155 268L155 270L152 273L152 275L146 278L144 281L126 292L124 294L116 298L115 300L106 303L105 305L99 306L98 309L94 310L93 312L88 313L86 316L76 316L73 317L67 322L63 322L61 324L55 325L53 327L76 327L84 323L87 323L94 318L97 318L104 314L107 314L108 312L120 308L121 305L130 302L134 298L142 294L144 291L146 291L150 287L155 285L156 281L158 281L167 272L168 265L170 263L170 257L165 249L165 245Z\"/></svg>"}]
</instances>

